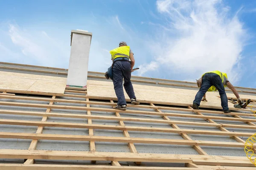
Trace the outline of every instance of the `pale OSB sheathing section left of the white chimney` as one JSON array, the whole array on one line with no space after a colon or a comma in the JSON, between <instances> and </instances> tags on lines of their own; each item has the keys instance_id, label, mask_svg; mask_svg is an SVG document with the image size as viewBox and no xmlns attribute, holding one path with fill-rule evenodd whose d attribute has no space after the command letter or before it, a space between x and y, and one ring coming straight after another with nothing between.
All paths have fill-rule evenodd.
<instances>
[{"instance_id":1,"label":"pale OSB sheathing section left of the white chimney","mask_svg":"<svg viewBox=\"0 0 256 170\"><path fill-rule=\"evenodd\" d=\"M64 94L66 78L0 71L0 89Z\"/></svg>"}]
</instances>

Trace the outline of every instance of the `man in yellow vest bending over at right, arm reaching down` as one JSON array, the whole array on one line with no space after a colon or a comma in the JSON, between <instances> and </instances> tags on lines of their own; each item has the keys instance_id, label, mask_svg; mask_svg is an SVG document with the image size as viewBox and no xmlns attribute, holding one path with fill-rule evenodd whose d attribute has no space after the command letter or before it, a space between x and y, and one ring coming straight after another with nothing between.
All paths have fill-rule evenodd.
<instances>
[{"instance_id":1,"label":"man in yellow vest bending over at right, arm reaching down","mask_svg":"<svg viewBox=\"0 0 256 170\"><path fill-rule=\"evenodd\" d=\"M203 74L199 80L197 80L197 84L200 90L196 94L195 100L193 101L193 109L199 109L201 100L207 101L207 91L218 90L221 96L221 106L223 108L224 113L230 113L231 111L228 108L227 94L225 92L224 87L230 88L233 94L235 94L238 103L242 102L238 92L236 91L234 86L228 81L226 73L221 73L220 71L207 72Z\"/></svg>"}]
</instances>

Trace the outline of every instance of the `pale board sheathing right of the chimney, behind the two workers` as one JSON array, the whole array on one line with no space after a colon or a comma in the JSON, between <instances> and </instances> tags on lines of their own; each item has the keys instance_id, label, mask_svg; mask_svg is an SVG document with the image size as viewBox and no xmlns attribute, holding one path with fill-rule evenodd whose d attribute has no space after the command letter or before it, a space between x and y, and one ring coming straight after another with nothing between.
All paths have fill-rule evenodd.
<instances>
[{"instance_id":1,"label":"pale board sheathing right of the chimney, behind the two workers","mask_svg":"<svg viewBox=\"0 0 256 170\"><path fill-rule=\"evenodd\" d=\"M199 89L188 90L180 88L166 88L158 86L147 85L133 85L134 93L140 101L152 101L152 102L172 102L179 104L192 104ZM102 96L116 98L115 91L112 82L103 82L88 80L87 82L87 95L88 96ZM232 94L227 94L231 96ZM218 97L217 92L207 92L207 102L202 101L201 106L221 106L221 99ZM241 95L247 98L256 98L256 96ZM129 99L125 93L125 99ZM229 107L233 107L232 103L229 103Z\"/></svg>"}]
</instances>

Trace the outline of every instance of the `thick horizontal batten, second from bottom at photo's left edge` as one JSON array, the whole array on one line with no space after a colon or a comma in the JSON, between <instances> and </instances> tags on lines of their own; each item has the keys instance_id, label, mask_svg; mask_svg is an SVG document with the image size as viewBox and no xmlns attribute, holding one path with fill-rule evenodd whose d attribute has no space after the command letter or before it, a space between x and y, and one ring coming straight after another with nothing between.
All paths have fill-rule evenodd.
<instances>
[{"instance_id":1,"label":"thick horizontal batten, second from bottom at photo's left edge","mask_svg":"<svg viewBox=\"0 0 256 170\"><path fill-rule=\"evenodd\" d=\"M12 150L1 149L0 158L5 159L51 159L51 160L96 160L96 161L144 161L192 163L191 158L182 155L154 153L112 153L56 150Z\"/></svg>"}]
</instances>

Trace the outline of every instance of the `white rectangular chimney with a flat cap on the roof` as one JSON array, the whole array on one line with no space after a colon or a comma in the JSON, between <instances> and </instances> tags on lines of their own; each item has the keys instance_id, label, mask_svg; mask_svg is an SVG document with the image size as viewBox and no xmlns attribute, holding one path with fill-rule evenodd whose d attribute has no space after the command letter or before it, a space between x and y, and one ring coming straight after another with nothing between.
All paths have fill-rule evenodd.
<instances>
[{"instance_id":1,"label":"white rectangular chimney with a flat cap on the roof","mask_svg":"<svg viewBox=\"0 0 256 170\"><path fill-rule=\"evenodd\" d=\"M71 31L71 51L67 73L67 86L86 88L92 35L91 32L84 30Z\"/></svg>"}]
</instances>

